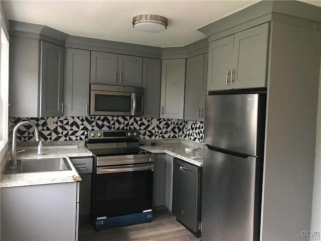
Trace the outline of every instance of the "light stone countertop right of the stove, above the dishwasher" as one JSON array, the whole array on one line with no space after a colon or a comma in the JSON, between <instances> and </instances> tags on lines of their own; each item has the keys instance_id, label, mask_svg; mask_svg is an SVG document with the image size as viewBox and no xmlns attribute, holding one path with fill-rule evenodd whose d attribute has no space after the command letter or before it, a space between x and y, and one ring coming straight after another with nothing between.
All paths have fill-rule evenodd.
<instances>
[{"instance_id":1,"label":"light stone countertop right of the stove, above the dishwasher","mask_svg":"<svg viewBox=\"0 0 321 241\"><path fill-rule=\"evenodd\" d=\"M203 166L203 148L202 144L195 151L185 151L185 148L190 148L191 145L187 143L162 143L156 146L144 145L140 146L141 149L151 153L166 153L173 157L177 157L186 162L192 163L196 166ZM194 146L195 147L195 146Z\"/></svg>"}]
</instances>

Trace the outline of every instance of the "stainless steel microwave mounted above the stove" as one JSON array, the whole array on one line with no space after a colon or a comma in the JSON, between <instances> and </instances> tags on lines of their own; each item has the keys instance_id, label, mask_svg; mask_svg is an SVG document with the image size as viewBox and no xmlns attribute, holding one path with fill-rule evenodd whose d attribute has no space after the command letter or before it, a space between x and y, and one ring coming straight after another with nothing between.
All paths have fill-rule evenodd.
<instances>
[{"instance_id":1,"label":"stainless steel microwave mounted above the stove","mask_svg":"<svg viewBox=\"0 0 321 241\"><path fill-rule=\"evenodd\" d=\"M142 115L143 88L91 84L91 115Z\"/></svg>"}]
</instances>

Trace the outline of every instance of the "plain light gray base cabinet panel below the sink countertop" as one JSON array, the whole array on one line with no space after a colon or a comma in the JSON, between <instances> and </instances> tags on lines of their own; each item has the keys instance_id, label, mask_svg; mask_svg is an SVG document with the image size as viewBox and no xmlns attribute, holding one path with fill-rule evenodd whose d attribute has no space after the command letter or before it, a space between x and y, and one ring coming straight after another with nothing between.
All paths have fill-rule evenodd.
<instances>
[{"instance_id":1,"label":"plain light gray base cabinet panel below the sink countertop","mask_svg":"<svg viewBox=\"0 0 321 241\"><path fill-rule=\"evenodd\" d=\"M77 183L1 189L1 240L78 240Z\"/></svg>"}]
</instances>

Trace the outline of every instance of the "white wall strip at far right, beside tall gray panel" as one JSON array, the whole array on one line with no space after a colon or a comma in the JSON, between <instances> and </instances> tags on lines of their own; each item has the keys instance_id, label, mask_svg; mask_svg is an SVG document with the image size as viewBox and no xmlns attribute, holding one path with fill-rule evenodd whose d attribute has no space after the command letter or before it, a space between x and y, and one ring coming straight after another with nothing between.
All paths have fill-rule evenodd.
<instances>
[{"instance_id":1,"label":"white wall strip at far right, beside tall gray panel","mask_svg":"<svg viewBox=\"0 0 321 241\"><path fill-rule=\"evenodd\" d=\"M319 101L317 111L314 183L311 215L311 232L321 232L321 67L319 82Z\"/></svg>"}]
</instances>

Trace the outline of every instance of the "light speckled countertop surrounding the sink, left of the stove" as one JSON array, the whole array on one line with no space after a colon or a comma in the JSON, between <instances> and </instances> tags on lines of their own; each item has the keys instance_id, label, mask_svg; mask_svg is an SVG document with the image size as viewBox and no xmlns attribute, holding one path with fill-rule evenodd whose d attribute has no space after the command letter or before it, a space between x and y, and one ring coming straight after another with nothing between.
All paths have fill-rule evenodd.
<instances>
[{"instance_id":1,"label":"light speckled countertop surrounding the sink, left of the stove","mask_svg":"<svg viewBox=\"0 0 321 241\"><path fill-rule=\"evenodd\" d=\"M70 157L92 156L92 153L87 148L77 146L44 147L43 155L41 156L37 155L36 147L20 147L17 150L21 149L25 149L25 151L17 153L18 160L65 157L68 160L68 163L71 166L72 170L55 172L19 173L9 175L2 173L0 183L1 188L80 181L80 175L78 174L74 165L72 164Z\"/></svg>"}]
</instances>

